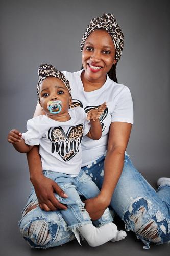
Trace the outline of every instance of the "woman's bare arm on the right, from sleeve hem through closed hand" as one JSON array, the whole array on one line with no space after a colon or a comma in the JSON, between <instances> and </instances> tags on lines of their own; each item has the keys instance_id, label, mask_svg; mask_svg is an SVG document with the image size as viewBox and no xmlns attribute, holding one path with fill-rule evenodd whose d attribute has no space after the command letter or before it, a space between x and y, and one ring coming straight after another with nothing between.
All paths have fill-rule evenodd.
<instances>
[{"instance_id":1,"label":"woman's bare arm on the right, from sleeve hem through closed hand","mask_svg":"<svg viewBox=\"0 0 170 256\"><path fill-rule=\"evenodd\" d=\"M85 201L85 208L92 220L99 219L110 204L114 189L124 167L124 155L131 128L132 124L125 122L112 122L110 125L102 189L98 197Z\"/></svg>"}]
</instances>

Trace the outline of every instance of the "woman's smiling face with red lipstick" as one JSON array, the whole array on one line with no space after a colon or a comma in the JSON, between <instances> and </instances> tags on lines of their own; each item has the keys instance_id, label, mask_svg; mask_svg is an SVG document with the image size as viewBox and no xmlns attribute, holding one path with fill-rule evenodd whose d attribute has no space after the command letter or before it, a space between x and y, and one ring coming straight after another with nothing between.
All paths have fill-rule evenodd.
<instances>
[{"instance_id":1,"label":"woman's smiling face with red lipstick","mask_svg":"<svg viewBox=\"0 0 170 256\"><path fill-rule=\"evenodd\" d=\"M116 63L115 47L106 30L95 30L86 39L82 53L84 77L88 81L106 80L106 73Z\"/></svg>"}]
</instances>

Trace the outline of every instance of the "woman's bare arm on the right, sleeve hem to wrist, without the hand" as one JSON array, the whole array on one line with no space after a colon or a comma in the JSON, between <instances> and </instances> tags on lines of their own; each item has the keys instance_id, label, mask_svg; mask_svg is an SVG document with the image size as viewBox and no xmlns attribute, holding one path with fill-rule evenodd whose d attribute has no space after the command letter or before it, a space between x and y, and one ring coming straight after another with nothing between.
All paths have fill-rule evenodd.
<instances>
[{"instance_id":1,"label":"woman's bare arm on the right, sleeve hem to wrist, without the hand","mask_svg":"<svg viewBox=\"0 0 170 256\"><path fill-rule=\"evenodd\" d=\"M110 204L112 194L124 167L125 151L130 138L132 124L113 122L110 126L108 151L105 158L105 176L101 189L101 197Z\"/></svg>"}]
</instances>

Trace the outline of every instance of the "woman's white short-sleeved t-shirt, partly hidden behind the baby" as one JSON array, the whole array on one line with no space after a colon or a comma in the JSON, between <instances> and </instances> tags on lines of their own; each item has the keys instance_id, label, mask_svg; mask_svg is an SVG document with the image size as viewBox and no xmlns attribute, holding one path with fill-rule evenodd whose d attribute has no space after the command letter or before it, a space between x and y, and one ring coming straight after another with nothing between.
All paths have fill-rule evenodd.
<instances>
[{"instance_id":1,"label":"woman's white short-sleeved t-shirt, partly hidden behind the baby","mask_svg":"<svg viewBox=\"0 0 170 256\"><path fill-rule=\"evenodd\" d=\"M133 124L133 102L127 86L113 82L108 76L104 85L91 92L85 92L81 81L82 70L78 72L63 71L70 83L72 101L80 105L85 112L107 103L107 108L100 120L103 126L102 137L91 140L87 136L82 141L82 166L86 166L101 157L107 150L108 133L111 122L127 122Z\"/></svg>"}]
</instances>

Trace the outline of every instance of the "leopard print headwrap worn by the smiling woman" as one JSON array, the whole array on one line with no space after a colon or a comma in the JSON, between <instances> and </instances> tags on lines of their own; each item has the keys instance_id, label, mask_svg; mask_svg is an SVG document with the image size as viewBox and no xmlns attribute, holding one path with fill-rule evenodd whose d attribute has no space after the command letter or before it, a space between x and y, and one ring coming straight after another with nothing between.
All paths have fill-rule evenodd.
<instances>
[{"instance_id":1,"label":"leopard print headwrap worn by the smiling woman","mask_svg":"<svg viewBox=\"0 0 170 256\"><path fill-rule=\"evenodd\" d=\"M122 30L118 26L115 17L113 16L113 14L110 13L103 14L102 16L93 18L91 20L86 31L84 32L81 41L81 52L83 51L83 47L87 37L91 34L91 32L98 29L105 29L111 36L116 50L115 59L118 61L122 55L122 50L124 46L124 35L122 33Z\"/></svg>"}]
</instances>

